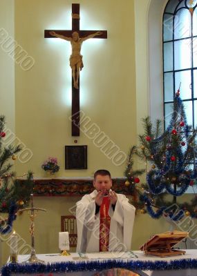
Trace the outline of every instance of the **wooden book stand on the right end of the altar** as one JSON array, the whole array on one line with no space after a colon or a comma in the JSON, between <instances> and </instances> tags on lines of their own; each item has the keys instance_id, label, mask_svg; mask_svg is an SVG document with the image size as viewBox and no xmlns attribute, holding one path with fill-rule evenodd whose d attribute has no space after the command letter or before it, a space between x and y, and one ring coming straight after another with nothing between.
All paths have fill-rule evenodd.
<instances>
[{"instance_id":1,"label":"wooden book stand on the right end of the altar","mask_svg":"<svg viewBox=\"0 0 197 276\"><path fill-rule=\"evenodd\" d=\"M142 250L145 255L155 255L158 257L182 255L185 254L185 251L173 249L173 246L188 236L189 233L176 230L154 235L148 242L140 247L140 250Z\"/></svg>"}]
</instances>

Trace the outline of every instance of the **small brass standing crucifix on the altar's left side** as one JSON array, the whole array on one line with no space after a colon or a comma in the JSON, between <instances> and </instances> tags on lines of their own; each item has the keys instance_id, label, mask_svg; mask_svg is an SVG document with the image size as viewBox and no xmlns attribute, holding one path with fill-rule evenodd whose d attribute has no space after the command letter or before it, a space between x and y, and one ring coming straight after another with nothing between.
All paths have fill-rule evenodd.
<instances>
[{"instance_id":1,"label":"small brass standing crucifix on the altar's left side","mask_svg":"<svg viewBox=\"0 0 197 276\"><path fill-rule=\"evenodd\" d=\"M30 195L30 206L31 208L26 208L26 209L22 209L22 210L19 210L19 212L23 212L23 211L30 211L30 235L31 235L31 246L32 246L32 249L31 249L31 253L30 253L30 258L28 259L28 261L26 262L29 262L29 263L40 263L40 264L44 264L44 261L42 261L41 259L38 259L36 257L36 253L35 253L35 223L34 223L34 219L35 217L37 216L37 214L35 214L35 210L38 211L45 211L46 212L46 209L41 209L41 208L35 208L34 205L33 205L33 195L31 194Z\"/></svg>"}]
</instances>

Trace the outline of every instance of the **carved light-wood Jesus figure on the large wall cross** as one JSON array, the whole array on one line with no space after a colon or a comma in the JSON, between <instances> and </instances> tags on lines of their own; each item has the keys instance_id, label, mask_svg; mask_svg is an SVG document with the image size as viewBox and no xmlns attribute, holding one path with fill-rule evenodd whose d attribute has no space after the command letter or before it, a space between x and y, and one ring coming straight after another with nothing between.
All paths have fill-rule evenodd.
<instances>
[{"instance_id":1,"label":"carved light-wood Jesus figure on the large wall cross","mask_svg":"<svg viewBox=\"0 0 197 276\"><path fill-rule=\"evenodd\" d=\"M93 37L97 35L102 35L102 32L95 32L94 34L89 34L87 37L79 37L78 32L73 32L72 37L65 37L64 35L57 34L56 32L49 32L50 35L53 37L57 37L59 39L64 39L66 41L71 41L72 46L72 54L70 57L70 66L73 73L73 82L74 87L78 89L78 81L79 81L79 70L82 70L84 67L84 63L82 61L82 55L81 55L81 48L82 43L86 41L87 39L92 39Z\"/></svg>"}]
</instances>

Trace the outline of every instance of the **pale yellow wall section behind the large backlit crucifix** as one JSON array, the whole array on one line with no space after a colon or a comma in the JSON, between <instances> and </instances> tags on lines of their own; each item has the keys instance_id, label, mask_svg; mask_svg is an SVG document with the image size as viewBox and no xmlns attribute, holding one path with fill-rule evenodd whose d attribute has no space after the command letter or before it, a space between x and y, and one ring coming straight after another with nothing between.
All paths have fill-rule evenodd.
<instances>
[{"instance_id":1,"label":"pale yellow wall section behind the large backlit crucifix","mask_svg":"<svg viewBox=\"0 0 197 276\"><path fill-rule=\"evenodd\" d=\"M30 161L17 162L17 172L30 168L35 177L44 177L41 164L54 156L59 177L91 176L97 168L120 177L125 164L115 166L82 132L77 140L88 145L88 170L64 170L64 146L75 145L68 119L71 46L44 39L44 29L70 29L72 3L80 3L81 28L108 30L108 39L91 39L82 46L81 108L123 152L136 142L134 2L17 0L15 38L35 59L28 72L15 68L17 136L32 150Z\"/></svg>"}]
</instances>

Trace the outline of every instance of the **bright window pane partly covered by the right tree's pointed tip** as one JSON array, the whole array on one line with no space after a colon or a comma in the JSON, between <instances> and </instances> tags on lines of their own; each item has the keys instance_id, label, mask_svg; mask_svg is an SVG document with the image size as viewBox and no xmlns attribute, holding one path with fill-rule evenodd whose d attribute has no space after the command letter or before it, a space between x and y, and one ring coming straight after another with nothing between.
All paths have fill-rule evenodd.
<instances>
[{"instance_id":1,"label":"bright window pane partly covered by the right tree's pointed tip","mask_svg":"<svg viewBox=\"0 0 197 276\"><path fill-rule=\"evenodd\" d=\"M180 85L181 83L181 85ZM180 71L175 73L175 88L180 86L181 99L191 99L191 71Z\"/></svg>"}]
</instances>

